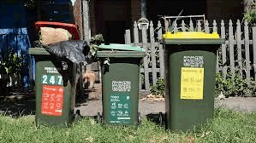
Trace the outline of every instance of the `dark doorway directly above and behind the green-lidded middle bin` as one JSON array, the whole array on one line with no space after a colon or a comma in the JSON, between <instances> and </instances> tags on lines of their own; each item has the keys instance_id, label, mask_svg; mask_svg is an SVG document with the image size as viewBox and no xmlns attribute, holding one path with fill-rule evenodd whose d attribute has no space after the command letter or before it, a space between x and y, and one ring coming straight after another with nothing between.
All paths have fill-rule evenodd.
<instances>
[{"instance_id":1,"label":"dark doorway directly above and behind the green-lidded middle bin","mask_svg":"<svg viewBox=\"0 0 256 143\"><path fill-rule=\"evenodd\" d=\"M124 44L124 33L130 29L131 1L95 1L96 34L108 43Z\"/></svg>"}]
</instances>

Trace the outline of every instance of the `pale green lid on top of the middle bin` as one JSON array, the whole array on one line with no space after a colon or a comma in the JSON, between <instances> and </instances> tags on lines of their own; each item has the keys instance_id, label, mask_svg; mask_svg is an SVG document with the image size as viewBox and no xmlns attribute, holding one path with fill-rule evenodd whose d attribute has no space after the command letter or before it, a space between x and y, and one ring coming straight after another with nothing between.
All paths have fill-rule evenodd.
<instances>
[{"instance_id":1,"label":"pale green lid on top of the middle bin","mask_svg":"<svg viewBox=\"0 0 256 143\"><path fill-rule=\"evenodd\" d=\"M104 49L104 50L109 50L109 49L115 49L115 50L128 50L128 51L144 51L140 46L132 46L132 45L127 45L127 44L109 44L105 45L100 44L99 48Z\"/></svg>"}]
</instances>

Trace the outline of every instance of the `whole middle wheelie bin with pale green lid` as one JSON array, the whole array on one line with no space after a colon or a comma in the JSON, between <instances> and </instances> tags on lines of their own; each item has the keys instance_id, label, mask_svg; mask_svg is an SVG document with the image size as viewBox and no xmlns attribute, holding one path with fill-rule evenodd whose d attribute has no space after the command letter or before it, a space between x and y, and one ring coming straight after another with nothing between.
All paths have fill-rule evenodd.
<instances>
[{"instance_id":1,"label":"whole middle wheelie bin with pale green lid","mask_svg":"<svg viewBox=\"0 0 256 143\"><path fill-rule=\"evenodd\" d=\"M99 48L96 57L101 61L103 123L139 123L139 72L145 51L125 44L101 44Z\"/></svg>"}]
</instances>

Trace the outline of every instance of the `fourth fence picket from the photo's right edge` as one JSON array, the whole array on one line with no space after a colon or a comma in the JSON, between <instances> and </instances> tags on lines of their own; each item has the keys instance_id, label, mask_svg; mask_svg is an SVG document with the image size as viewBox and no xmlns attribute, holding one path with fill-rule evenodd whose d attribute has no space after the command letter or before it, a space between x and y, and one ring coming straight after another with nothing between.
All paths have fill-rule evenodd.
<instances>
[{"instance_id":1,"label":"fourth fence picket from the photo's right edge","mask_svg":"<svg viewBox=\"0 0 256 143\"><path fill-rule=\"evenodd\" d=\"M233 36L233 27L232 27L232 20L229 20L229 56L230 56L230 66L231 66L231 73L232 73L232 80L234 81L235 77L235 62L234 62L234 36Z\"/></svg>"}]
</instances>

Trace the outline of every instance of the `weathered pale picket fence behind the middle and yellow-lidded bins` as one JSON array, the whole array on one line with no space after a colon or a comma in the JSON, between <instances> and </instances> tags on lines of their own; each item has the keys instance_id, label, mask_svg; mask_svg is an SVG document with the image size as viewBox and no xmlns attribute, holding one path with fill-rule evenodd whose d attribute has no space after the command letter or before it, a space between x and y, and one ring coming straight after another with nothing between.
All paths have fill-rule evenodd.
<instances>
[{"instance_id":1,"label":"weathered pale picket fence behind the middle and yellow-lidded bins","mask_svg":"<svg viewBox=\"0 0 256 143\"><path fill-rule=\"evenodd\" d=\"M174 31L177 32L177 23L174 24ZM184 21L182 21L182 31L186 31ZM194 24L190 21L189 29L194 30ZM222 71L223 76L226 77L227 69L230 67L231 72L233 73L232 78L234 79L235 69L239 69L240 71L244 71L246 74L246 79L255 78L256 72L256 28L255 27L248 27L248 23L245 21L244 23L240 23L237 20L236 23L236 32L233 33L234 27L233 23L229 21L228 31L225 31L225 24L224 20L221 20L221 24L217 25L216 21L213 20L213 27L209 27L208 20L205 21L204 31L206 33L218 32L218 27L220 26L220 32L218 33L221 38L225 38L225 44L222 44L219 51L217 52L217 72ZM252 29L249 32L249 29ZM202 31L201 23L197 23L197 29L195 31ZM150 57L146 56L143 59L143 68L140 68L140 91L149 91L150 90L150 78L152 78L152 84L155 85L157 81L157 75L159 77L164 77L164 50L163 44L161 43L161 36L163 34L161 29L161 23L158 21L157 25L157 34L155 35L154 25L153 22L150 21L149 30L143 28L142 30L138 29L138 25L134 22L133 28L133 38L131 38L131 31L126 30L124 37L125 37L125 44L130 44L133 46L141 46L147 52L150 52ZM139 41L139 34L142 33L142 40ZM149 33L149 36L148 36ZM249 36L252 35L252 36ZM149 39L148 39L149 37ZM249 39L249 37L251 39ZM133 43L131 42L133 39ZM229 57L227 55L227 51L229 52ZM236 52L236 55L234 54ZM251 53L253 52L253 53ZM219 66L219 56L222 59L222 63ZM250 57L253 56L253 57ZM159 58L158 58L159 57ZM149 60L149 59L150 60ZM227 58L229 58L230 64L227 65ZM253 61L250 61L250 58ZM244 60L245 59L245 60ZM243 64L245 62L245 65ZM250 71L254 71L251 74ZM159 73L159 74L158 74ZM242 72L241 76L242 76ZM142 81L142 74L144 74L144 81ZM150 74L151 77L149 76ZM145 84L145 88L142 88L142 84Z\"/></svg>"}]
</instances>

